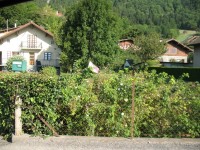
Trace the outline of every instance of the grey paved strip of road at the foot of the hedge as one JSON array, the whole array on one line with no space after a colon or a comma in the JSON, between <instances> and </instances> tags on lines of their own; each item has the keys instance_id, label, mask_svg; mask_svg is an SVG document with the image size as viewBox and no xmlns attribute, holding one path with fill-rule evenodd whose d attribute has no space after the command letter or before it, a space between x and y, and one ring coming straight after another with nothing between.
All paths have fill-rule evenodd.
<instances>
[{"instance_id":1,"label":"grey paved strip of road at the foot of the hedge","mask_svg":"<svg viewBox=\"0 0 200 150\"><path fill-rule=\"evenodd\" d=\"M13 137L0 140L0 150L200 150L200 139L105 138L105 137Z\"/></svg>"}]
</instances>

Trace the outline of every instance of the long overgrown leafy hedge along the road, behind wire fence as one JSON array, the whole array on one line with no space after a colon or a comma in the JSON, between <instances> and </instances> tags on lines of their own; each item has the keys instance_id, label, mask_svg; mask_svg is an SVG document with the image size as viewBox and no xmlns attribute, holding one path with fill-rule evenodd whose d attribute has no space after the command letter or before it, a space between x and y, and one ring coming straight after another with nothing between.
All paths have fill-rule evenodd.
<instances>
[{"instance_id":1,"label":"long overgrown leafy hedge along the road, behind wire fence","mask_svg":"<svg viewBox=\"0 0 200 150\"><path fill-rule=\"evenodd\" d=\"M199 83L155 72L89 79L81 74L1 73L0 135L14 131L14 99L19 95L25 133L52 135L41 116L62 135L130 137L133 82L135 136L200 136Z\"/></svg>"}]
</instances>

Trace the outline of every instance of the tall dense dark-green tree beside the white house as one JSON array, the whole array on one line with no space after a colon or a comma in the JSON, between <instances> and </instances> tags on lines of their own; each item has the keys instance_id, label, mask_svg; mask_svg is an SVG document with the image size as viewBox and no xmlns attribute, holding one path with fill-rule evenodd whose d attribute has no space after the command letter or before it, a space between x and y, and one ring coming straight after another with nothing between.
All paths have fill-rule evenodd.
<instances>
[{"instance_id":1,"label":"tall dense dark-green tree beside the white house","mask_svg":"<svg viewBox=\"0 0 200 150\"><path fill-rule=\"evenodd\" d=\"M110 64L118 49L120 19L107 0L82 0L66 13L61 63L65 70L88 61L99 67ZM76 62L76 63L75 63Z\"/></svg>"}]
</instances>

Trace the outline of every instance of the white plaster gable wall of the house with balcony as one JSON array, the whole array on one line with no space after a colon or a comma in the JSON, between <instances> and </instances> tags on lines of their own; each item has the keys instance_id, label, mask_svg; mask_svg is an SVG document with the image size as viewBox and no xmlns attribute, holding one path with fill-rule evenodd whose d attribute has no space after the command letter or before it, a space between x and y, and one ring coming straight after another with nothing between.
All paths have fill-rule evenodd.
<instances>
[{"instance_id":1,"label":"white plaster gable wall of the house with balcony","mask_svg":"<svg viewBox=\"0 0 200 150\"><path fill-rule=\"evenodd\" d=\"M22 42L27 47L28 35L35 35L37 44L41 43L42 47L37 49L22 48ZM37 59L44 59L45 52L50 52L51 59L54 60L59 59L61 50L55 44L55 41L51 36L34 26L28 26L19 32L4 38L0 43L0 52L2 53L2 65L6 65L9 57L19 53L19 55L22 55L27 61L27 69L35 69L36 64L30 65L30 53L34 53L34 61Z\"/></svg>"}]
</instances>

